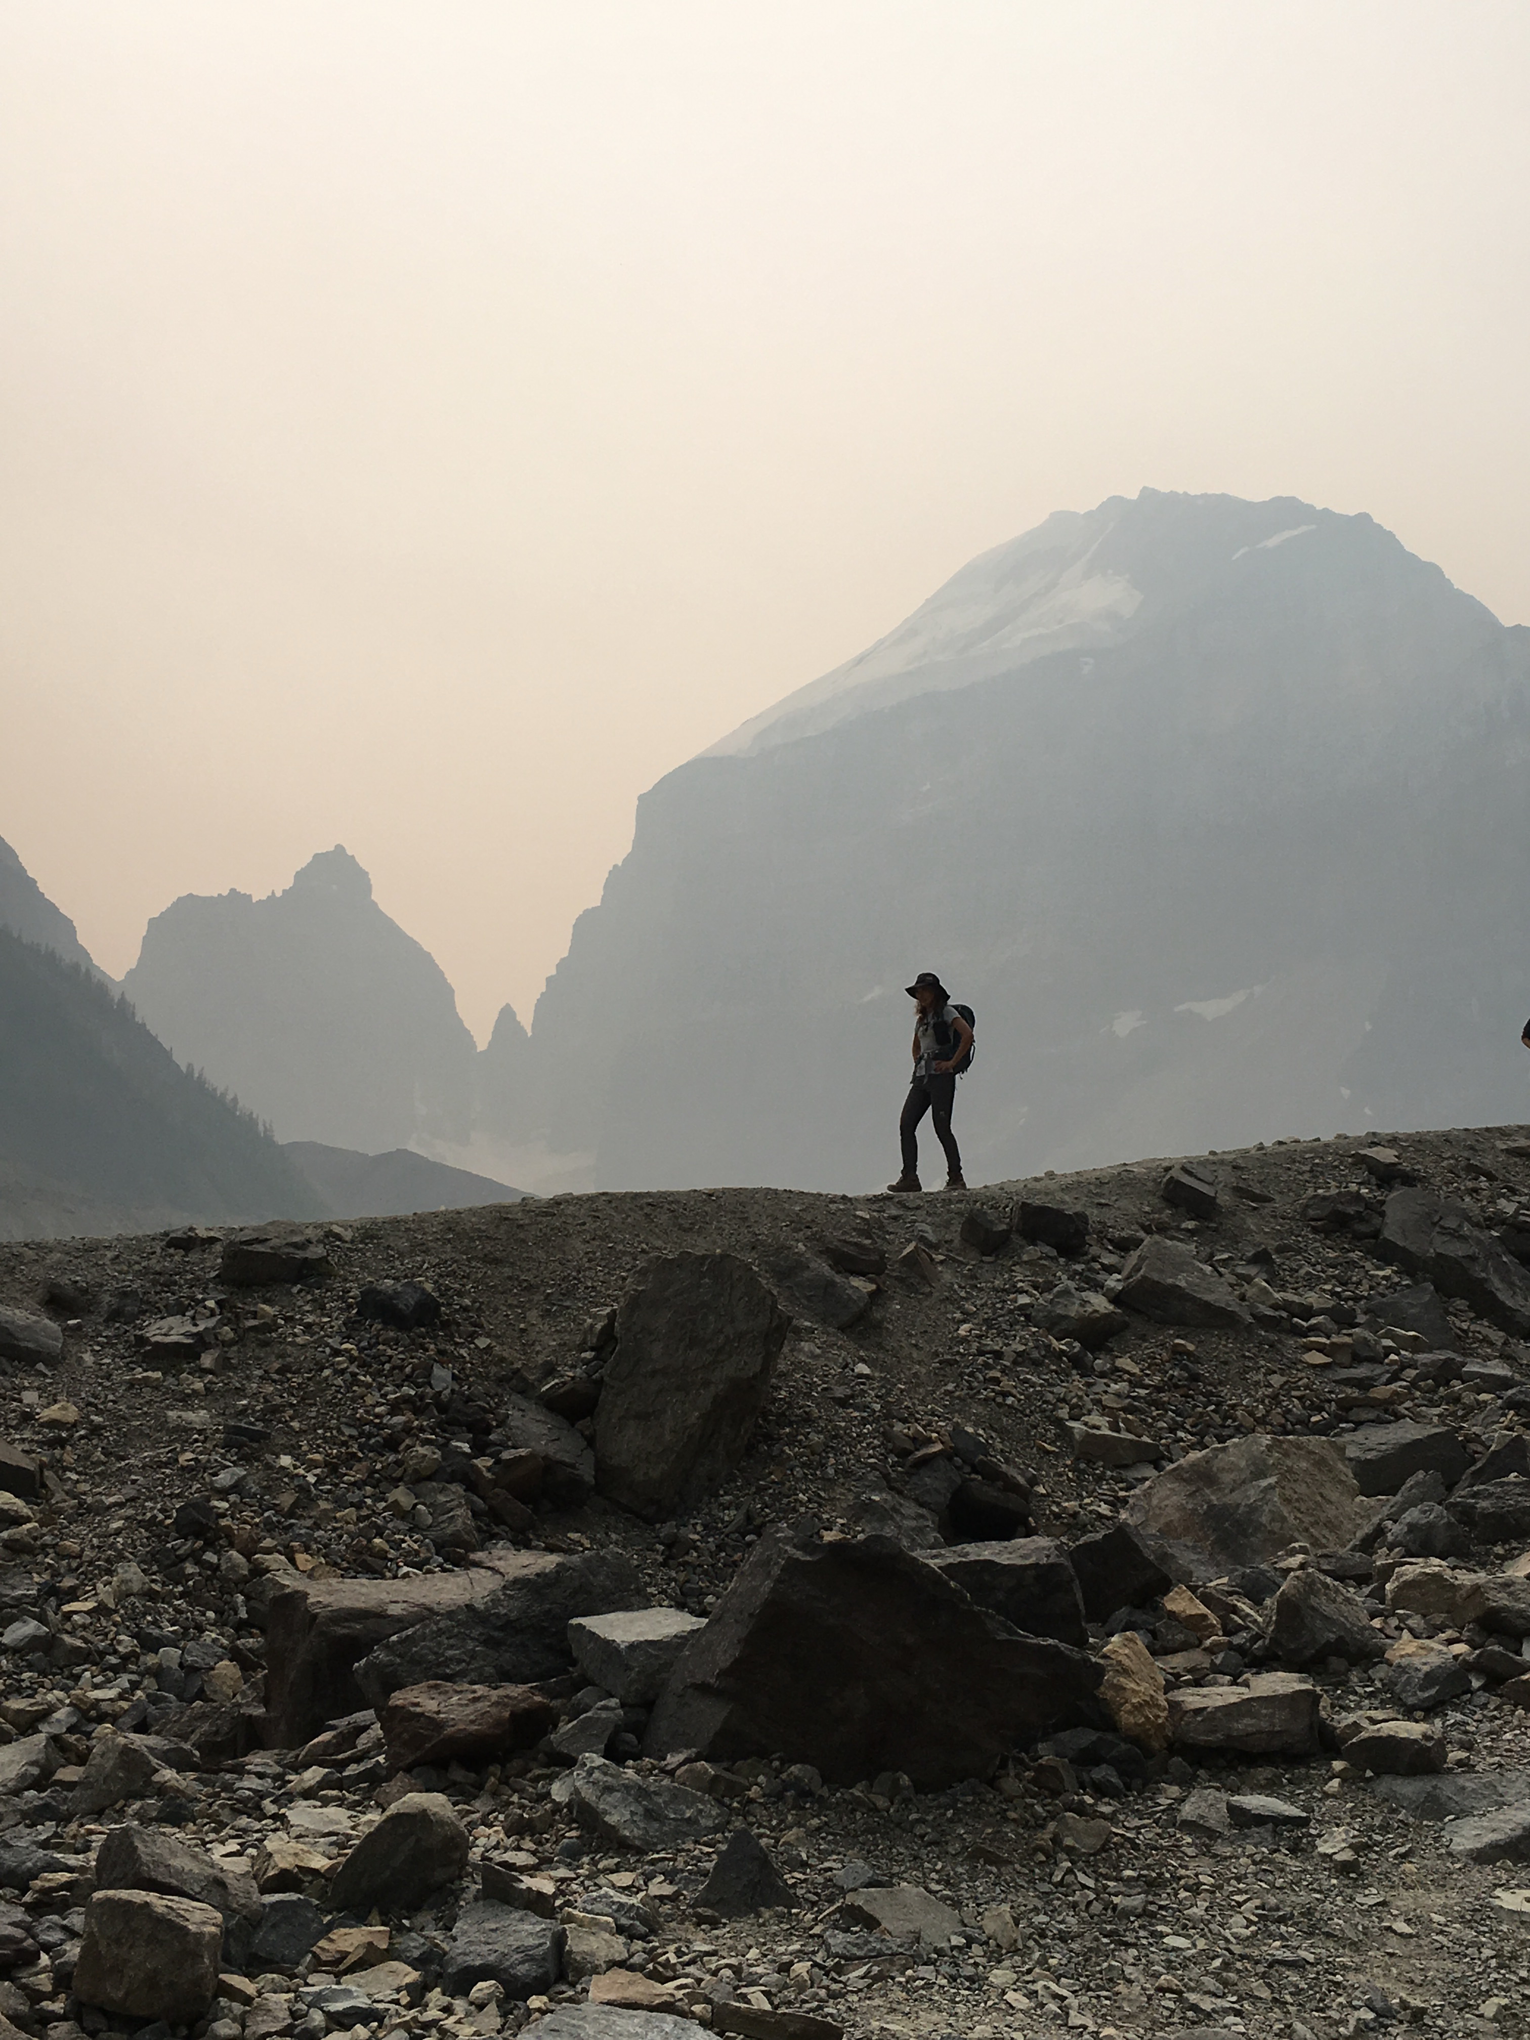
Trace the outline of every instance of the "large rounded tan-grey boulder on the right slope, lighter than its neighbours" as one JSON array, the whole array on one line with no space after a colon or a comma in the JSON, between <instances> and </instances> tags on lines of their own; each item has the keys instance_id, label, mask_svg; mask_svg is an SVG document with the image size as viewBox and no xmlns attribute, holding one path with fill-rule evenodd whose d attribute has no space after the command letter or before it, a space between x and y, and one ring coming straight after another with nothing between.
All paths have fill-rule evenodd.
<instances>
[{"instance_id":1,"label":"large rounded tan-grey boulder on the right slope, lighter than its neighbours","mask_svg":"<svg viewBox=\"0 0 1530 2040\"><path fill-rule=\"evenodd\" d=\"M1342 1550L1369 1520L1336 1444L1263 1432L1187 1452L1136 1489L1126 1518L1197 1559L1204 1579L1295 1542Z\"/></svg>"}]
</instances>

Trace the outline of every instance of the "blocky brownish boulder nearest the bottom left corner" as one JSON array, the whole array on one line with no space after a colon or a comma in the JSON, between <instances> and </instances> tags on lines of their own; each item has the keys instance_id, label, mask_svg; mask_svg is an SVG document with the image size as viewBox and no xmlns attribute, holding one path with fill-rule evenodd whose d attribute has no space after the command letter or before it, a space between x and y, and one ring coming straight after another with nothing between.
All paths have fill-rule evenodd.
<instances>
[{"instance_id":1,"label":"blocky brownish boulder nearest the bottom left corner","mask_svg":"<svg viewBox=\"0 0 1530 2040\"><path fill-rule=\"evenodd\" d=\"M96 1891L73 1971L82 2005L192 2026L218 1989L222 1916L159 1891Z\"/></svg>"}]
</instances>

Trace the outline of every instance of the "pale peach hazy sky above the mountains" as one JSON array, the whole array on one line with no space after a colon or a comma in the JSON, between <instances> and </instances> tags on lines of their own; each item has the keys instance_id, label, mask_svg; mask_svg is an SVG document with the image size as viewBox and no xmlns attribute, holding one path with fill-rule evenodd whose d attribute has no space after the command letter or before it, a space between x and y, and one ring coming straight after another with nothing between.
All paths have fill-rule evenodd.
<instances>
[{"instance_id":1,"label":"pale peach hazy sky above the mountains","mask_svg":"<svg viewBox=\"0 0 1530 2040\"><path fill-rule=\"evenodd\" d=\"M1144 483L1530 620L1530 10L0 4L0 836L345 843L483 1036L643 787Z\"/></svg>"}]
</instances>

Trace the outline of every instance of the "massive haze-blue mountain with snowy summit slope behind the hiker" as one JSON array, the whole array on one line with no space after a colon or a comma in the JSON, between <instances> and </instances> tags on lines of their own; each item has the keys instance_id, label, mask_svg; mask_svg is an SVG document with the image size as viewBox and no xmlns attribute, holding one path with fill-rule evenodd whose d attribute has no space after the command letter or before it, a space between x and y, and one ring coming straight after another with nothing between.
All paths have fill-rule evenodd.
<instances>
[{"instance_id":1,"label":"massive haze-blue mountain with snowy summit slope behind the hiker","mask_svg":"<svg viewBox=\"0 0 1530 2040\"><path fill-rule=\"evenodd\" d=\"M977 1008L977 1179L1516 1120L1528 865L1530 632L1369 516L1112 498L643 796L516 1130L885 1181L916 969Z\"/></svg>"}]
</instances>

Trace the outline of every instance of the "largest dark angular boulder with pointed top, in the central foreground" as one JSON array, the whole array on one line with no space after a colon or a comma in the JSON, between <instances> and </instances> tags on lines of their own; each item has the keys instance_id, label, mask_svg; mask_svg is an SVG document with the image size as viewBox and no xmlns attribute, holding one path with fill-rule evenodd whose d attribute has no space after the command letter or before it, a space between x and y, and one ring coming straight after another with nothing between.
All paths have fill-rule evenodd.
<instances>
[{"instance_id":1,"label":"largest dark angular boulder with pointed top, in the central foreground","mask_svg":"<svg viewBox=\"0 0 1530 2040\"><path fill-rule=\"evenodd\" d=\"M761 1538L649 1722L667 1756L783 1750L832 1783L983 1777L1047 1728L1104 1720L1100 1667L1022 1636L891 1538Z\"/></svg>"}]
</instances>

